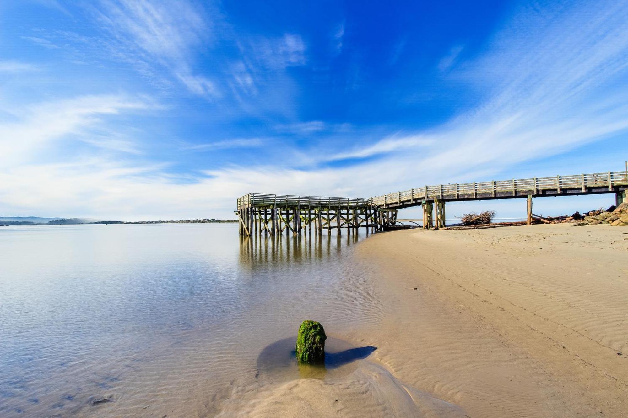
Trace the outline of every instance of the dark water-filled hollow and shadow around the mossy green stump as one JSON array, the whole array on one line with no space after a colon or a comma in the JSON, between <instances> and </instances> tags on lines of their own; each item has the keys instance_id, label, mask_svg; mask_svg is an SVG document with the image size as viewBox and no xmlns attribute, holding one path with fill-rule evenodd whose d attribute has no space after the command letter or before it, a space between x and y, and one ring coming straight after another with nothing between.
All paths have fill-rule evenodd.
<instances>
[{"instance_id":1,"label":"dark water-filled hollow and shadow around the mossy green stump","mask_svg":"<svg viewBox=\"0 0 628 418\"><path fill-rule=\"evenodd\" d=\"M296 338L284 338L268 345L257 356L257 378L264 380L294 380L296 378L326 378L345 375L355 370L347 367L356 360L367 358L376 346L354 347L337 338L325 341L325 364L301 365L296 362Z\"/></svg>"}]
</instances>

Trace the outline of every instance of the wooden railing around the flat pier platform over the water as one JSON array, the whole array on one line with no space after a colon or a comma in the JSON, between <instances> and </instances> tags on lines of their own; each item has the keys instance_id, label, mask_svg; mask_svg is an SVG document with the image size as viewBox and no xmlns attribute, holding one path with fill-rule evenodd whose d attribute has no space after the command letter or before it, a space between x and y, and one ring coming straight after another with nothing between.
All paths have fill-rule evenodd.
<instances>
[{"instance_id":1,"label":"wooden railing around the flat pier platform over the water","mask_svg":"<svg viewBox=\"0 0 628 418\"><path fill-rule=\"evenodd\" d=\"M303 207L333 207L362 208L371 205L369 199L338 198L327 196L297 196L297 195L266 195L263 193L249 193L237 199L237 208L246 209L263 206L303 206Z\"/></svg>"}]
</instances>

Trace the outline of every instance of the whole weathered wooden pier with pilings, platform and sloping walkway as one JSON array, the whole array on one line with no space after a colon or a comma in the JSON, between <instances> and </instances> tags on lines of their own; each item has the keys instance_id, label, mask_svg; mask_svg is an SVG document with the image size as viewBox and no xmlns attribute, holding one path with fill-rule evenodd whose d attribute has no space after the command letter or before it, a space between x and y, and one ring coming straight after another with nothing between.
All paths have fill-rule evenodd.
<instances>
[{"instance_id":1,"label":"whole weathered wooden pier with pilings, platform and sloping walkway","mask_svg":"<svg viewBox=\"0 0 628 418\"><path fill-rule=\"evenodd\" d=\"M532 199L543 196L575 196L615 193L619 204L628 201L628 169L606 173L575 174L479 183L423 186L370 199L320 196L263 195L249 193L237 200L237 216L242 235L276 235L303 232L311 234L341 228L355 232L366 228L377 232L394 227L397 211L423 206L423 228L445 227L448 201L526 198L528 225L532 218ZM434 213L436 212L436 213Z\"/></svg>"}]
</instances>

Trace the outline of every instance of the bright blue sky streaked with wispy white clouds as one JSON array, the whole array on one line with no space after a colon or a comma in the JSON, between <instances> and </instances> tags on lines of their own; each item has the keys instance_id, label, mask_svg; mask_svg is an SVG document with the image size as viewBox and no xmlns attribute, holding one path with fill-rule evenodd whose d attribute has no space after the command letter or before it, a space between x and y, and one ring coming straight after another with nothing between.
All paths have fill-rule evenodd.
<instances>
[{"instance_id":1,"label":"bright blue sky streaked with wispy white clouds","mask_svg":"<svg viewBox=\"0 0 628 418\"><path fill-rule=\"evenodd\" d=\"M4 1L0 215L232 218L249 191L620 170L627 75L620 1Z\"/></svg>"}]
</instances>

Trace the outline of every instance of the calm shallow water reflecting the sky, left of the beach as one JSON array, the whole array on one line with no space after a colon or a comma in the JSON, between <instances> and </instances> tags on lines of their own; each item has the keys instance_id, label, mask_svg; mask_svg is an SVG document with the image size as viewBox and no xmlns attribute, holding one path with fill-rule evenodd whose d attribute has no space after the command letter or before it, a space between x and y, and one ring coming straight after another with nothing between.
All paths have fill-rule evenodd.
<instances>
[{"instance_id":1,"label":"calm shallow water reflecting the sky, left of the beach","mask_svg":"<svg viewBox=\"0 0 628 418\"><path fill-rule=\"evenodd\" d=\"M359 350L334 336L377 321L352 261L364 237L241 238L236 224L2 227L0 416L211 416L265 382L303 377L263 355L303 319L323 323L334 352ZM349 353L318 377L368 354Z\"/></svg>"}]
</instances>

